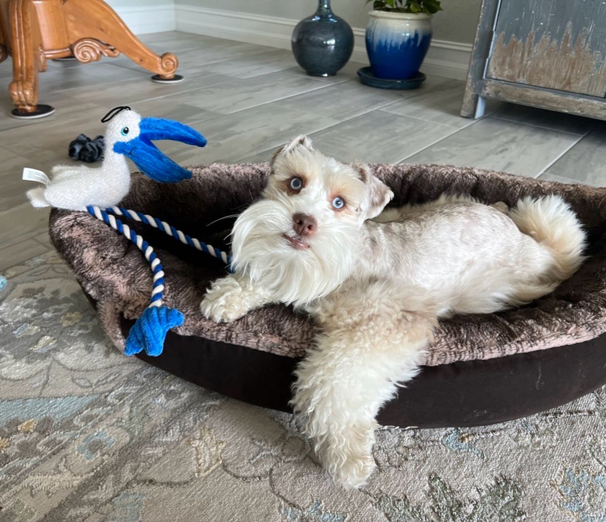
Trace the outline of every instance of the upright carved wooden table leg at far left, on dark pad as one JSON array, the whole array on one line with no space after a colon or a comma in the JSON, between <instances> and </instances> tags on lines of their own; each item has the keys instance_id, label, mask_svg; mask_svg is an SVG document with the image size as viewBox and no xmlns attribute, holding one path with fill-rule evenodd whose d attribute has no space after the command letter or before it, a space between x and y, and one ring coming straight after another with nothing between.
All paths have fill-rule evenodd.
<instances>
[{"instance_id":1,"label":"upright carved wooden table leg at far left, on dark pad","mask_svg":"<svg viewBox=\"0 0 606 522\"><path fill-rule=\"evenodd\" d=\"M43 117L55 112L50 105L38 105L38 71L46 68L38 16L31 0L11 0L8 9L13 56L13 81L8 86L15 105L11 115Z\"/></svg>"}]
</instances>

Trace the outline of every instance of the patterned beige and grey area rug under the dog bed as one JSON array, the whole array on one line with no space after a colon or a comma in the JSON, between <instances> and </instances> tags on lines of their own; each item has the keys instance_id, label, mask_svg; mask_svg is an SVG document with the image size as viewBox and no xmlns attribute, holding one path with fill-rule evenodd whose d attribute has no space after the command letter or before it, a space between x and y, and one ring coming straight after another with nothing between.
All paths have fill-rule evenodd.
<instances>
[{"instance_id":1,"label":"patterned beige and grey area rug under the dog bed","mask_svg":"<svg viewBox=\"0 0 606 522\"><path fill-rule=\"evenodd\" d=\"M486 428L382 429L378 472L346 492L291 415L119 354L56 254L4 275L2 522L606 521L604 389Z\"/></svg>"}]
</instances>

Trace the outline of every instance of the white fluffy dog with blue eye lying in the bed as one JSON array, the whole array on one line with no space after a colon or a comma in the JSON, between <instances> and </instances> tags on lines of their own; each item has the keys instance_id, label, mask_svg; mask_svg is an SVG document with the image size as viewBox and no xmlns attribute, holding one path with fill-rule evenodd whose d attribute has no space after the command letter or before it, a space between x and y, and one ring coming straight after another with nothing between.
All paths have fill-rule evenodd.
<instances>
[{"instance_id":1,"label":"white fluffy dog with blue eye lying in the bed","mask_svg":"<svg viewBox=\"0 0 606 522\"><path fill-rule=\"evenodd\" d=\"M583 259L581 225L558 196L513 210L442 196L381 214L392 197L365 165L296 138L271 160L262 199L236 220L236 274L216 280L201 303L216 321L275 302L315 318L291 402L345 487L375 469L376 414L417 373L439 317L537 299Z\"/></svg>"}]
</instances>

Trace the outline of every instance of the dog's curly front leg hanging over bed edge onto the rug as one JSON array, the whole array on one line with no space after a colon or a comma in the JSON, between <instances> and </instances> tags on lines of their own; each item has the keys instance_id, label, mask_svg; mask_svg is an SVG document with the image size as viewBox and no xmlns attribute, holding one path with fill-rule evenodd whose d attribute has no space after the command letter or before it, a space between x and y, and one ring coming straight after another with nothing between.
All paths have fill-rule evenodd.
<instances>
[{"instance_id":1,"label":"dog's curly front leg hanging over bed edge onto the rug","mask_svg":"<svg viewBox=\"0 0 606 522\"><path fill-rule=\"evenodd\" d=\"M364 484L376 467L376 414L398 383L415 376L435 316L347 315L351 321L322 325L316 347L296 371L291 403L307 417L305 433L325 469L351 488Z\"/></svg>"}]
</instances>

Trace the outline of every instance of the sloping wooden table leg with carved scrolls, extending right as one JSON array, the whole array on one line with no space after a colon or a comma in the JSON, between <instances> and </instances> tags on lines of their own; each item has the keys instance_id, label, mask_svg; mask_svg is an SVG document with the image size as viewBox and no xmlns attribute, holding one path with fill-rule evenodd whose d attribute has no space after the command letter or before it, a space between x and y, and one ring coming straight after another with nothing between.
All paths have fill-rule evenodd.
<instances>
[{"instance_id":1,"label":"sloping wooden table leg with carved scrolls, extending right","mask_svg":"<svg viewBox=\"0 0 606 522\"><path fill-rule=\"evenodd\" d=\"M76 42L73 54L79 61L96 61L113 50L118 51L116 55L122 52L136 64L155 73L152 79L161 82L182 81L182 76L175 74L179 65L177 57L172 53L158 56L145 47L104 1L65 0L62 10L70 38ZM85 44L82 43L83 39Z\"/></svg>"}]
</instances>

